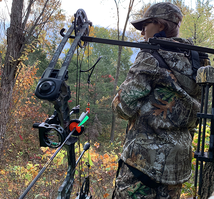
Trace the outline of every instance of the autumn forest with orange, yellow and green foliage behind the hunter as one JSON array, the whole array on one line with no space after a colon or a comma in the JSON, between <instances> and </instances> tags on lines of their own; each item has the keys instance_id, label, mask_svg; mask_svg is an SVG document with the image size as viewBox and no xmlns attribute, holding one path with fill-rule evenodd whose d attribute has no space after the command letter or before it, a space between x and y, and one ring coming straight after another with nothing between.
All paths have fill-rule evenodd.
<instances>
[{"instance_id":1,"label":"autumn forest with orange, yellow and green foliage behind the hunter","mask_svg":"<svg viewBox=\"0 0 214 199\"><path fill-rule=\"evenodd\" d=\"M35 16L40 14L48 0L32 2L34 3L34 9L31 10L30 14ZM51 4L47 9L52 9L54 12L51 13L44 26L37 27L34 35L31 35L31 42L25 45L14 76L11 100L8 98L8 121L5 134L1 136L3 147L0 163L0 198L2 199L18 198L51 154L54 153L53 149L39 146L38 130L32 128L33 123L43 122L51 116L54 109L52 104L37 99L34 91L38 80L62 39L59 31L62 28L68 28L74 17L66 16L60 7L60 3L55 4L58 1L52 0L50 2ZM131 2L130 0L129 4L125 5L122 1L112 0L117 8L115 20L118 23L120 22L118 12L121 7L125 7L130 11ZM184 15L180 37L191 38L195 45L213 48L214 18L212 2L198 0L194 8L187 6L181 0L172 2L181 8ZM132 10L128 16L131 19L139 18L149 6L150 3L142 3L139 10ZM8 24L4 23L3 17L0 20L0 79L2 84L6 68ZM30 18L26 22L28 25L28 29L25 29L26 34L31 30L32 21L33 18ZM90 36L125 41L142 40L140 32L132 28L126 29L125 25L123 30L92 26ZM72 40L69 44L71 43ZM68 51L69 44L66 45L63 54ZM90 141L91 148L78 165L71 198L75 197L84 176L88 173L86 162L91 165L89 174L91 176L90 192L92 196L94 198L111 197L117 161L122 150L126 129L126 121L117 119L112 115L111 101L118 86L125 80L133 62L133 56L136 55L137 51L131 48L123 47L121 49L117 46L91 43L85 49L79 49L78 53L76 51L72 58L68 68L69 78L67 80L67 84L71 88L69 106L70 108L76 106L78 101L81 111L85 111L88 103L90 103L90 119L85 125L84 135L80 137L78 144L76 144L77 157L82 151L84 142ZM80 90L78 90L77 63L81 64L83 70L87 70L100 56L102 56L102 59L93 72L90 84L87 83L88 74L81 74ZM120 62L118 62L119 56ZM58 60L58 68L60 68L63 58L62 55ZM210 56L210 59L212 61L212 56ZM78 95L79 100L77 99ZM113 130L115 134L112 134L112 120L115 122L115 129ZM207 128L207 137L209 137L209 127ZM197 135L193 140L193 151L196 149L196 143ZM208 148L208 145L206 145L206 148ZM26 198L56 198L57 190L66 176L66 161L66 152L62 150ZM194 164L195 160L193 159L193 170ZM194 172L193 177L183 185L183 198L192 196L193 179Z\"/></svg>"}]
</instances>

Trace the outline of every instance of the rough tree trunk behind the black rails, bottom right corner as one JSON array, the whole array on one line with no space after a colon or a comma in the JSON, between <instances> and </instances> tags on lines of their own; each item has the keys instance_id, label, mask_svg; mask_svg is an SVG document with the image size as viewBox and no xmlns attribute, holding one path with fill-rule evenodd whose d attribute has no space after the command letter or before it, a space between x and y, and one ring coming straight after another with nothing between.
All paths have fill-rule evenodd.
<instances>
[{"instance_id":1,"label":"rough tree trunk behind the black rails, bottom right corner","mask_svg":"<svg viewBox=\"0 0 214 199\"><path fill-rule=\"evenodd\" d=\"M209 198L214 192L214 163L206 162L203 169L201 199Z\"/></svg>"}]
</instances>

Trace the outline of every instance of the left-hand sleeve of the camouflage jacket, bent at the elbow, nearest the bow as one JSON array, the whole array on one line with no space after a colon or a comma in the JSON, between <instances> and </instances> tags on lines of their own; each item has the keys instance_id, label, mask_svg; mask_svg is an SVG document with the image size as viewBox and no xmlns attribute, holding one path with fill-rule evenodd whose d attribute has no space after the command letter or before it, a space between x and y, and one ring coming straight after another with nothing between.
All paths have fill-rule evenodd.
<instances>
[{"instance_id":1,"label":"left-hand sleeve of the camouflage jacket, bent at the elbow, nearest the bow","mask_svg":"<svg viewBox=\"0 0 214 199\"><path fill-rule=\"evenodd\" d=\"M128 120L140 109L143 98L151 92L157 65L157 60L151 54L139 52L112 101L112 108L119 118Z\"/></svg>"}]
</instances>

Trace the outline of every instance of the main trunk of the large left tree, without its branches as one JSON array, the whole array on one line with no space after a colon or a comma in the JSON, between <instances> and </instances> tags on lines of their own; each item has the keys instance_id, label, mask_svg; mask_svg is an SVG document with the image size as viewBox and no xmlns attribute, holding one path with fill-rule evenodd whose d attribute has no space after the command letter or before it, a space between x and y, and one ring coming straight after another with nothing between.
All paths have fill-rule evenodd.
<instances>
[{"instance_id":1,"label":"main trunk of the large left tree, without its branches","mask_svg":"<svg viewBox=\"0 0 214 199\"><path fill-rule=\"evenodd\" d=\"M0 154L9 118L15 75L19 65L20 49L23 42L22 9L24 0L14 0L10 15L10 27L7 29L7 52L5 64L2 67L0 87ZM1 158L1 155L0 155Z\"/></svg>"}]
</instances>

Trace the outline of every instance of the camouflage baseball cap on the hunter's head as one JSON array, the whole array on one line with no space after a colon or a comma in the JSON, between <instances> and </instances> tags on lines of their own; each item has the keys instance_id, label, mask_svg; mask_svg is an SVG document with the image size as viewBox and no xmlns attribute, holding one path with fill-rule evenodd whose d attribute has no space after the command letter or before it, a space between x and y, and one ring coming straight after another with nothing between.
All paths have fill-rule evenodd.
<instances>
[{"instance_id":1,"label":"camouflage baseball cap on the hunter's head","mask_svg":"<svg viewBox=\"0 0 214 199\"><path fill-rule=\"evenodd\" d=\"M142 30L142 24L144 21L151 18L159 18L180 25L182 17L183 15L176 5L169 2L161 2L149 7L144 13L143 18L132 21L131 24L137 30Z\"/></svg>"}]
</instances>

